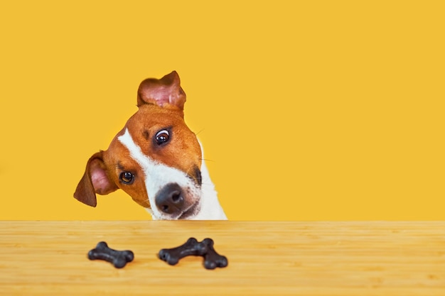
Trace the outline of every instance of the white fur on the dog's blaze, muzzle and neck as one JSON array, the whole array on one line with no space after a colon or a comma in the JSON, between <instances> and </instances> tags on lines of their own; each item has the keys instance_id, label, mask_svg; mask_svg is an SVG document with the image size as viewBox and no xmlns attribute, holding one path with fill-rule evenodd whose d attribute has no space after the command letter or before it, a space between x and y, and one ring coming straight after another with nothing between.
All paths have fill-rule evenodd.
<instances>
[{"instance_id":1,"label":"white fur on the dog's blaze, muzzle and neck","mask_svg":"<svg viewBox=\"0 0 445 296\"><path fill-rule=\"evenodd\" d=\"M125 133L122 136L119 136L118 139L129 150L130 156L141 166L141 169L144 172L146 192L151 204L151 209L147 209L147 211L151 214L153 219L172 219L168 214L159 211L154 200L154 197L156 197L159 190L161 190L163 186L172 182L177 183L183 188L183 191L191 198L192 204L198 203L200 206L199 212L194 216L189 216L187 219L227 219L218 201L215 187L212 180L210 180L204 160L200 168L202 185L199 187L185 172L168 167L163 163L156 162L150 158L149 155L142 153L141 148L134 143L128 129L126 129Z\"/></svg>"}]
</instances>

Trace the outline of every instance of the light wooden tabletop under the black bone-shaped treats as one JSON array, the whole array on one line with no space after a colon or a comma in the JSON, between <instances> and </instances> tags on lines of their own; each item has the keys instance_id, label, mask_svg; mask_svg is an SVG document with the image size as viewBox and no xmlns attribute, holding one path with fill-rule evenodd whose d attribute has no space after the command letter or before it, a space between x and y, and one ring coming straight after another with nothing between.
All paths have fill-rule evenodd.
<instances>
[{"instance_id":1,"label":"light wooden tabletop under the black bone-shaped treats","mask_svg":"<svg viewBox=\"0 0 445 296\"><path fill-rule=\"evenodd\" d=\"M0 221L0 295L445 295L445 221ZM210 237L227 268L161 248ZM134 251L90 261L99 241Z\"/></svg>"}]
</instances>

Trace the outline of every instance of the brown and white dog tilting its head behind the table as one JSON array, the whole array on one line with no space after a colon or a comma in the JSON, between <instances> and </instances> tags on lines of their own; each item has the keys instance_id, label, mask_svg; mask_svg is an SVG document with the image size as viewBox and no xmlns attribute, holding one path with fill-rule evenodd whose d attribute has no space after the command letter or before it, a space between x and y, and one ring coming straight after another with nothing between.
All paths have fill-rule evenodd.
<instances>
[{"instance_id":1,"label":"brown and white dog tilting its head behind the table","mask_svg":"<svg viewBox=\"0 0 445 296\"><path fill-rule=\"evenodd\" d=\"M74 197L96 207L96 194L120 188L155 220L227 219L202 146L184 121L185 102L176 71L141 82L138 111L87 161Z\"/></svg>"}]
</instances>

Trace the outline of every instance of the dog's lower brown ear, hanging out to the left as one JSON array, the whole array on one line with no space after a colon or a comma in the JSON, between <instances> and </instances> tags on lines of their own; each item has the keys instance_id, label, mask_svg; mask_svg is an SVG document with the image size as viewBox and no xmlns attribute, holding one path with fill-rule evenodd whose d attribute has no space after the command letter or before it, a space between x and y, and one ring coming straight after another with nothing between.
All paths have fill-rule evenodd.
<instances>
[{"instance_id":1,"label":"dog's lower brown ear, hanging out to the left","mask_svg":"<svg viewBox=\"0 0 445 296\"><path fill-rule=\"evenodd\" d=\"M102 153L103 151L95 153L88 160L85 174L74 192L75 199L91 207L96 207L96 193L104 195L118 189L109 179Z\"/></svg>"}]
</instances>

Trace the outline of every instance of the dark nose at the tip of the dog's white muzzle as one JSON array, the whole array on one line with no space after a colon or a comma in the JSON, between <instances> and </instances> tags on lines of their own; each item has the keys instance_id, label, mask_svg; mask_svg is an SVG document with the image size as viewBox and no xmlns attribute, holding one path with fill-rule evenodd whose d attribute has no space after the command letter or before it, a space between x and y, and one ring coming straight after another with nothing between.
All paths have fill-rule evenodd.
<instances>
[{"instance_id":1,"label":"dark nose at the tip of the dog's white muzzle","mask_svg":"<svg viewBox=\"0 0 445 296\"><path fill-rule=\"evenodd\" d=\"M184 197L176 183L165 185L154 198L156 207L166 214L179 214L183 210Z\"/></svg>"}]
</instances>

